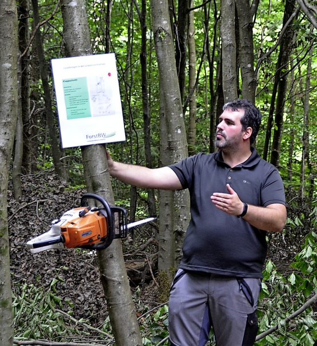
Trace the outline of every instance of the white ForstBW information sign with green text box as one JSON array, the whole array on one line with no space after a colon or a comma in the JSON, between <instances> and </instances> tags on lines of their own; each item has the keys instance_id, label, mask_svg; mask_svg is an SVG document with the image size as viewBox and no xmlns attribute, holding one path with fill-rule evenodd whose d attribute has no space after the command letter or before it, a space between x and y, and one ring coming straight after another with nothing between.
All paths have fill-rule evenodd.
<instances>
[{"instance_id":1,"label":"white ForstBW information sign with green text box","mask_svg":"<svg viewBox=\"0 0 317 346\"><path fill-rule=\"evenodd\" d=\"M63 148L125 141L114 54L52 59Z\"/></svg>"}]
</instances>

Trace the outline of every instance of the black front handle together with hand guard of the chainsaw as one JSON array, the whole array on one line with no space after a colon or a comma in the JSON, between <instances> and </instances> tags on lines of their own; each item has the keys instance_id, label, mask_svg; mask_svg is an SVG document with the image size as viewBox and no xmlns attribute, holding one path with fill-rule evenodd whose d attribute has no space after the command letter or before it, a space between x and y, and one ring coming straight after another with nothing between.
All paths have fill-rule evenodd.
<instances>
[{"instance_id":1,"label":"black front handle together with hand guard of the chainsaw","mask_svg":"<svg viewBox=\"0 0 317 346\"><path fill-rule=\"evenodd\" d=\"M84 249L90 249L90 250L106 249L112 243L113 239L123 238L127 236L126 210L120 207L110 207L108 202L103 197L96 195L94 193L86 193L81 197L82 207L86 207L87 199L89 198L97 200L103 205L103 208L101 209L99 208L98 210L106 218L107 236L105 240L103 240L102 242L98 244L84 245L81 247ZM114 216L113 216L114 213L118 213L118 223L119 223L118 235L115 234Z\"/></svg>"}]
</instances>

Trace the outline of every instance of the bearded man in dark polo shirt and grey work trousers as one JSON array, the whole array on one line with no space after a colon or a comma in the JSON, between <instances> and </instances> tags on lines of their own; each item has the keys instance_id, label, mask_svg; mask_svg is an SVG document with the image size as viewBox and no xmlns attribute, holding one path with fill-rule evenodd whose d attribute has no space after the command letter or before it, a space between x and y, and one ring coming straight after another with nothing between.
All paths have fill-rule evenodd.
<instances>
[{"instance_id":1,"label":"bearded man in dark polo shirt and grey work trousers","mask_svg":"<svg viewBox=\"0 0 317 346\"><path fill-rule=\"evenodd\" d=\"M213 327L217 346L251 346L266 256L266 232L286 223L278 171L251 147L261 113L247 100L224 105L215 144L168 167L148 169L112 161L110 174L157 189L188 188L191 221L169 299L172 346L204 346Z\"/></svg>"}]
</instances>

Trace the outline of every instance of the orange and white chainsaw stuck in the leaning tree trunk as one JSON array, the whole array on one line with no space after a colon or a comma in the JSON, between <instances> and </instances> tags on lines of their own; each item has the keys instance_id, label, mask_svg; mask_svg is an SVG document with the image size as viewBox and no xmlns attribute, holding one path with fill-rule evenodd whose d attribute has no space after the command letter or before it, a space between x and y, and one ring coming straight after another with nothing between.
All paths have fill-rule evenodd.
<instances>
[{"instance_id":1,"label":"orange and white chainsaw stuck in the leaning tree trunk","mask_svg":"<svg viewBox=\"0 0 317 346\"><path fill-rule=\"evenodd\" d=\"M87 205L88 199L100 202L102 207ZM66 211L52 222L49 231L29 240L26 245L32 253L71 247L101 250L108 247L113 239L127 237L128 229L155 219L127 224L125 209L110 207L101 196L86 193L81 198L81 207Z\"/></svg>"}]
</instances>

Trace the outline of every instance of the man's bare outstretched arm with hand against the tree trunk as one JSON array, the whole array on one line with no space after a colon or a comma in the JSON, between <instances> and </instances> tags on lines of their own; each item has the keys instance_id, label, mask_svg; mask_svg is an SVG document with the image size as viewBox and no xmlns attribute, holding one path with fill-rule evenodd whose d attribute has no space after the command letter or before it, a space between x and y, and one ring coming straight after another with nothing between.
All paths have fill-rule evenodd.
<instances>
[{"instance_id":1,"label":"man's bare outstretched arm with hand against the tree trunk","mask_svg":"<svg viewBox=\"0 0 317 346\"><path fill-rule=\"evenodd\" d=\"M113 161L106 151L109 173L125 183L161 190L179 190L182 185L177 175L169 167L150 169Z\"/></svg>"}]
</instances>

